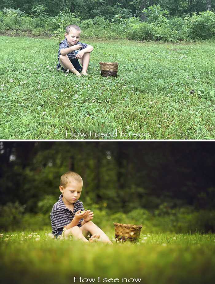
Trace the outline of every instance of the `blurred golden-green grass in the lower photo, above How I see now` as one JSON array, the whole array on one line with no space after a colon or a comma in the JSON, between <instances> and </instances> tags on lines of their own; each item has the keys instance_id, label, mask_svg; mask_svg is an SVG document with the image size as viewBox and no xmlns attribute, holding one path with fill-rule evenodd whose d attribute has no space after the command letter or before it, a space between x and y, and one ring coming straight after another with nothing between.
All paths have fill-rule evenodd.
<instances>
[{"instance_id":1,"label":"blurred golden-green grass in the lower photo, above How I see now","mask_svg":"<svg viewBox=\"0 0 215 284\"><path fill-rule=\"evenodd\" d=\"M139 243L111 246L51 239L48 233L0 235L2 283L214 283L214 234L141 232ZM114 239L114 231L107 235Z\"/></svg>"}]
</instances>

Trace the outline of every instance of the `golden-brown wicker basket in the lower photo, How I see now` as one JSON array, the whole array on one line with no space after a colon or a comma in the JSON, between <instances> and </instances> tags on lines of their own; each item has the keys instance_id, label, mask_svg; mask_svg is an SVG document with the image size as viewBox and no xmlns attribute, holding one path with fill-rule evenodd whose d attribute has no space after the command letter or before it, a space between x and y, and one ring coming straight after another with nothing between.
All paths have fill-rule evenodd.
<instances>
[{"instance_id":1,"label":"golden-brown wicker basket in the lower photo, How I see now","mask_svg":"<svg viewBox=\"0 0 215 284\"><path fill-rule=\"evenodd\" d=\"M123 241L137 242L139 240L142 225L114 223L115 238Z\"/></svg>"}]
</instances>

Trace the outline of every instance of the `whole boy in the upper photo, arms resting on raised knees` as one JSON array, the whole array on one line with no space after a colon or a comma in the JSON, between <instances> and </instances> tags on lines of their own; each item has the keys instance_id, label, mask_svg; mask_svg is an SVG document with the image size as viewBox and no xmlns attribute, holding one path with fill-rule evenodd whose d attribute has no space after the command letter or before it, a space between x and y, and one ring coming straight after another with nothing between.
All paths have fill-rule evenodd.
<instances>
[{"instance_id":1,"label":"whole boy in the upper photo, arms resting on raised knees","mask_svg":"<svg viewBox=\"0 0 215 284\"><path fill-rule=\"evenodd\" d=\"M69 25L66 27L65 39L59 44L57 70L61 69L64 72L69 70L77 76L88 75L87 69L93 47L81 43L79 38L79 26Z\"/></svg>"}]
</instances>

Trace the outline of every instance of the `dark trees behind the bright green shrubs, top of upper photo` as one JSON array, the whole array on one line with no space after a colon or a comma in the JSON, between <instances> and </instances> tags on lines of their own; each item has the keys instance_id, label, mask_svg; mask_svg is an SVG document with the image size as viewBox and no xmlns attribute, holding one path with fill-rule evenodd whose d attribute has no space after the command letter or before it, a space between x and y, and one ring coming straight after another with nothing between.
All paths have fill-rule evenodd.
<instances>
[{"instance_id":1,"label":"dark trees behind the bright green shrubs, top of upper photo","mask_svg":"<svg viewBox=\"0 0 215 284\"><path fill-rule=\"evenodd\" d=\"M116 14L125 18L140 17L145 21L144 9L153 5L159 5L162 10L168 10L170 16L182 16L183 14L199 13L215 9L215 0L2 0L0 9L14 8L25 11L27 14L35 14L37 7L44 6L45 13L55 16L60 11L69 10L80 15L83 19L104 16L111 19Z\"/></svg>"}]
</instances>

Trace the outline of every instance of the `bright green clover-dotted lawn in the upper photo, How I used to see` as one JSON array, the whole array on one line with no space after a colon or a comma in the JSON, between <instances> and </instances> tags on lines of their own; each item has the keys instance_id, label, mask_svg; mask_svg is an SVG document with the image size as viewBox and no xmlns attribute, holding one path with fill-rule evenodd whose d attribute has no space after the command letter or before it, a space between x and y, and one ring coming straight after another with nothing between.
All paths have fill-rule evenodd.
<instances>
[{"instance_id":1,"label":"bright green clover-dotted lawn in the upper photo, How I used to see","mask_svg":"<svg viewBox=\"0 0 215 284\"><path fill-rule=\"evenodd\" d=\"M215 138L213 42L81 41L94 51L78 78L56 70L58 40L0 36L0 139Z\"/></svg>"}]
</instances>

